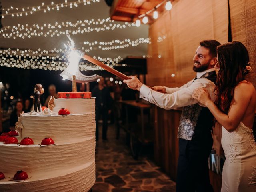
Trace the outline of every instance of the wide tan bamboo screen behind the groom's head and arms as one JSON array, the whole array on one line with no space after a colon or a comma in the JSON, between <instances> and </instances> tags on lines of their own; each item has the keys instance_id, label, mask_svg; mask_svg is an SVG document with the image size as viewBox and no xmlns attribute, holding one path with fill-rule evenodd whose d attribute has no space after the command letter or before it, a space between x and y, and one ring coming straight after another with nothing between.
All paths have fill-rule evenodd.
<instances>
[{"instance_id":1,"label":"wide tan bamboo screen behind the groom's head and arms","mask_svg":"<svg viewBox=\"0 0 256 192\"><path fill-rule=\"evenodd\" d=\"M150 26L149 37L147 84L181 86L195 76L192 58L201 40L228 41L228 2L176 0Z\"/></svg>"}]
</instances>

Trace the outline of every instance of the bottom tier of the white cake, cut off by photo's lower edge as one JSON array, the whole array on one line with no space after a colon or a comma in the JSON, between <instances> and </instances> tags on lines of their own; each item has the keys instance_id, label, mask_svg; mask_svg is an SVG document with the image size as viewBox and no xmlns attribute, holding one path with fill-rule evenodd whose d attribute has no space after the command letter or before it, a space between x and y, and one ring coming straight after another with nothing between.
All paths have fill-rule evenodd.
<instances>
[{"instance_id":1,"label":"bottom tier of the white cake, cut off by photo's lower edge","mask_svg":"<svg viewBox=\"0 0 256 192\"><path fill-rule=\"evenodd\" d=\"M72 169L70 169L72 170ZM68 172L70 172L68 170ZM89 165L74 168L74 172L66 174L61 171L58 176L48 175L46 179L32 176L24 182L10 181L10 178L0 180L1 192L88 192L95 183L95 161Z\"/></svg>"}]
</instances>

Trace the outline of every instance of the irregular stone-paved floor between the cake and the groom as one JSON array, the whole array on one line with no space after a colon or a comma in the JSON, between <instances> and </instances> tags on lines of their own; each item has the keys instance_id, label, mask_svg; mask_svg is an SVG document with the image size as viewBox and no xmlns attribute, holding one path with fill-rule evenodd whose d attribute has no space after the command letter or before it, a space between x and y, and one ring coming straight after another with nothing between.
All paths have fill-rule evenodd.
<instances>
[{"instance_id":1,"label":"irregular stone-paved floor between the cake and the groom","mask_svg":"<svg viewBox=\"0 0 256 192\"><path fill-rule=\"evenodd\" d=\"M175 182L160 171L146 155L132 158L121 131L115 139L113 126L108 142L96 143L96 183L93 192L174 192Z\"/></svg>"}]
</instances>

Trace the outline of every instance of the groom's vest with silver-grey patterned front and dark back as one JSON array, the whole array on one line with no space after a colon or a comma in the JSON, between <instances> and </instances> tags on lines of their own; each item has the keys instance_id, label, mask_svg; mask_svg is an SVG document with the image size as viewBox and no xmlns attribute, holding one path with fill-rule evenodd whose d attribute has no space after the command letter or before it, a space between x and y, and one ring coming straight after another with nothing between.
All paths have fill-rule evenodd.
<instances>
[{"instance_id":1,"label":"groom's vest with silver-grey patterned front and dark back","mask_svg":"<svg viewBox=\"0 0 256 192\"><path fill-rule=\"evenodd\" d=\"M216 83L216 72L207 72L200 78L206 78L214 84ZM185 106L182 109L178 138L192 140L192 138L202 138L210 133L213 125L213 116L210 110L198 104ZM206 133L206 134L205 134Z\"/></svg>"}]
</instances>

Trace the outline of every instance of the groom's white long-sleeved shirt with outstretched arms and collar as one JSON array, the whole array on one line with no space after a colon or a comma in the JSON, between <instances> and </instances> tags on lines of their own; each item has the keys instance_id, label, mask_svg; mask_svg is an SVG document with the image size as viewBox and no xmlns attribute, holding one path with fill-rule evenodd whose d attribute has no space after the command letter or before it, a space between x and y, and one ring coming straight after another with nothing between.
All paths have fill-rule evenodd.
<instances>
[{"instance_id":1,"label":"groom's white long-sleeved shirt with outstretched arms and collar","mask_svg":"<svg viewBox=\"0 0 256 192\"><path fill-rule=\"evenodd\" d=\"M173 109L198 103L197 100L192 98L194 90L197 88L206 88L211 96L212 101L214 101L216 98L216 95L214 95L213 92L215 84L206 78L200 79L200 77L207 72L212 72L214 70L215 69L212 68L203 72L197 72L196 80L193 79L181 87L166 87L167 94L154 91L146 85L142 85L140 88L140 98L143 98L144 100L153 103L161 108ZM203 106L202 104L200 105Z\"/></svg>"}]
</instances>

